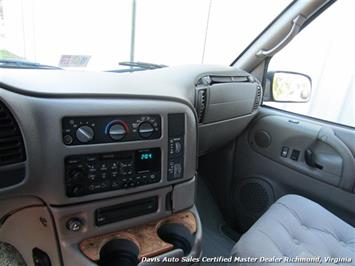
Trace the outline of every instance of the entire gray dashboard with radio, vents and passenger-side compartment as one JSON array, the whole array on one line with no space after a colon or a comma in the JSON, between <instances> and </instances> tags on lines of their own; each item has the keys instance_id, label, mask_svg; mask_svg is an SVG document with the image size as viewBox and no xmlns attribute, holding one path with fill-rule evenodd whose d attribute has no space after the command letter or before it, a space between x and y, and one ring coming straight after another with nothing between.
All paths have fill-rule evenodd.
<instances>
[{"instance_id":1,"label":"entire gray dashboard with radio, vents and passenger-side compartment","mask_svg":"<svg viewBox=\"0 0 355 266\"><path fill-rule=\"evenodd\" d=\"M1 237L27 258L36 242L59 245L50 254L58 264L87 265L77 247L84 239L193 208L198 157L246 127L261 93L232 67L3 69L0 214L41 208L51 230ZM25 216L27 226L34 217Z\"/></svg>"}]
</instances>

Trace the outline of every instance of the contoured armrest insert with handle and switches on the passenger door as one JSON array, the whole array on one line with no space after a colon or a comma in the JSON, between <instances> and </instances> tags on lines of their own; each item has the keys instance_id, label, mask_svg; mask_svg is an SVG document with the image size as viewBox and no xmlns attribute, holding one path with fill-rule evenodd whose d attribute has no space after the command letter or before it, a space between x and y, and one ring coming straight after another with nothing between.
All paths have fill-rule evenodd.
<instances>
[{"instance_id":1,"label":"contoured armrest insert with handle and switches on the passenger door","mask_svg":"<svg viewBox=\"0 0 355 266\"><path fill-rule=\"evenodd\" d=\"M352 191L355 160L328 125L282 115L267 115L251 127L256 152L322 182Z\"/></svg>"}]
</instances>

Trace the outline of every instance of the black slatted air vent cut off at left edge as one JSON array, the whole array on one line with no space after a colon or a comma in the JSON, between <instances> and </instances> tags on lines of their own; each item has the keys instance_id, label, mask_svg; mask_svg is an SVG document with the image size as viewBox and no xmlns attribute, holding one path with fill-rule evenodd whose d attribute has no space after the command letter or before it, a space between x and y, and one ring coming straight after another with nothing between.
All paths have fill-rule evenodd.
<instances>
[{"instance_id":1,"label":"black slatted air vent cut off at left edge","mask_svg":"<svg viewBox=\"0 0 355 266\"><path fill-rule=\"evenodd\" d=\"M23 139L15 118L0 102L0 166L26 159Z\"/></svg>"}]
</instances>

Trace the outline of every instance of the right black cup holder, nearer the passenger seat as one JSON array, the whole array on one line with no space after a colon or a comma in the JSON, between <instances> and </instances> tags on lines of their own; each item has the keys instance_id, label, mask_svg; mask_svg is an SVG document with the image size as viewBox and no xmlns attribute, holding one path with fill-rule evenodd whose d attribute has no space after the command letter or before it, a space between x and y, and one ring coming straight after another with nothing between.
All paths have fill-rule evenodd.
<instances>
[{"instance_id":1,"label":"right black cup holder, nearer the passenger seat","mask_svg":"<svg viewBox=\"0 0 355 266\"><path fill-rule=\"evenodd\" d=\"M185 255L188 255L192 249L194 243L194 236L190 230L178 223L165 223L158 229L158 236L174 246L174 248L180 248L184 251Z\"/></svg>"}]
</instances>

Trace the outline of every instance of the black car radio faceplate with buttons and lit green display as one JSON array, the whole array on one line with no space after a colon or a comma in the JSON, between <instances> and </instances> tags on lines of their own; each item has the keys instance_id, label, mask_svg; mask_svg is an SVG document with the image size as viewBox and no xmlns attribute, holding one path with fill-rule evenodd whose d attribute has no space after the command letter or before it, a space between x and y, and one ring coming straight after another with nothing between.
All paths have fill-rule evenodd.
<instances>
[{"instance_id":1,"label":"black car radio faceplate with buttons and lit green display","mask_svg":"<svg viewBox=\"0 0 355 266\"><path fill-rule=\"evenodd\" d=\"M70 156L65 159L68 197L138 187L160 180L160 148Z\"/></svg>"}]
</instances>

